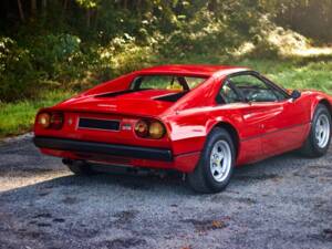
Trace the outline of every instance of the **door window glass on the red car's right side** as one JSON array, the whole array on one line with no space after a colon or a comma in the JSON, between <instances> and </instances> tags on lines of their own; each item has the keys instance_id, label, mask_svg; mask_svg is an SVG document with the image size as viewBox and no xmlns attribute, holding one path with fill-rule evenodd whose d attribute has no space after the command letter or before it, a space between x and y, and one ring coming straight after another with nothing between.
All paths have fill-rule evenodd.
<instances>
[{"instance_id":1,"label":"door window glass on the red car's right side","mask_svg":"<svg viewBox=\"0 0 332 249\"><path fill-rule=\"evenodd\" d=\"M230 77L230 82L250 102L276 102L280 100L277 91L260 79L247 74Z\"/></svg>"}]
</instances>

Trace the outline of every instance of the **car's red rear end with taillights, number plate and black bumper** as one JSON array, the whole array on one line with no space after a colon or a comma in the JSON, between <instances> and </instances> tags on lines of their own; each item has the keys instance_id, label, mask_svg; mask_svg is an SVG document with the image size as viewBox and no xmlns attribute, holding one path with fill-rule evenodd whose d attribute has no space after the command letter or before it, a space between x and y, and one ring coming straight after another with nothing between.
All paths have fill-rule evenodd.
<instances>
[{"instance_id":1,"label":"car's red rear end with taillights, number plate and black bumper","mask_svg":"<svg viewBox=\"0 0 332 249\"><path fill-rule=\"evenodd\" d=\"M173 167L166 127L156 118L44 110L34 133L43 153L63 158Z\"/></svg>"}]
</instances>

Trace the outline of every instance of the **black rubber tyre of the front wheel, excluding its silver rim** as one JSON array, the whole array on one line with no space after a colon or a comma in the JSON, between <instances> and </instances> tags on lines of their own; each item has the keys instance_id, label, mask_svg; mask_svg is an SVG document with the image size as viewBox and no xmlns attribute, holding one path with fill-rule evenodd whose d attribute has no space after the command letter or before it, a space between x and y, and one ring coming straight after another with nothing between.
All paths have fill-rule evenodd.
<instances>
[{"instance_id":1,"label":"black rubber tyre of the front wheel, excluding its silver rim","mask_svg":"<svg viewBox=\"0 0 332 249\"><path fill-rule=\"evenodd\" d=\"M319 141L315 137L315 128L318 125L318 121L322 115L326 116L330 123L330 137L326 145L323 147L319 146ZM332 129L331 113L325 105L319 104L313 114L309 136L307 137L302 148L300 149L300 153L307 157L320 157L325 155L331 143L331 129Z\"/></svg>"}]
</instances>

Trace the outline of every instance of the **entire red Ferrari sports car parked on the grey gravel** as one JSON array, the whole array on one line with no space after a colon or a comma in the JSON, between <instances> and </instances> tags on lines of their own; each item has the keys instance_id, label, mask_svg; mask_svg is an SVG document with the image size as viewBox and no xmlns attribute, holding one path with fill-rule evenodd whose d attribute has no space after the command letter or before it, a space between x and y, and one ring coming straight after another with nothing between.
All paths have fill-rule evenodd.
<instances>
[{"instance_id":1,"label":"entire red Ferrari sports car parked on the grey gravel","mask_svg":"<svg viewBox=\"0 0 332 249\"><path fill-rule=\"evenodd\" d=\"M75 174L93 163L176 169L222 190L235 166L300 149L326 153L332 97L284 90L247 68L162 65L39 111L34 144Z\"/></svg>"}]
</instances>

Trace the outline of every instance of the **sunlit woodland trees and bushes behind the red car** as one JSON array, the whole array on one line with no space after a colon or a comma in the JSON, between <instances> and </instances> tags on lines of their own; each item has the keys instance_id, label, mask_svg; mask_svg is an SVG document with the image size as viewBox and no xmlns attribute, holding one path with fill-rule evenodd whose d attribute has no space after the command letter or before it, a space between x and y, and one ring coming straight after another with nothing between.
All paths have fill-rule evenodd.
<instances>
[{"instance_id":1,"label":"sunlit woodland trees and bushes behind the red car","mask_svg":"<svg viewBox=\"0 0 332 249\"><path fill-rule=\"evenodd\" d=\"M332 41L332 0L2 0L0 101L81 90L149 64L278 56L276 27ZM209 62L205 60L205 62Z\"/></svg>"}]
</instances>

